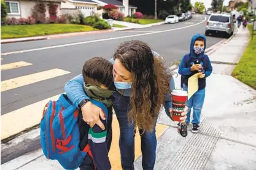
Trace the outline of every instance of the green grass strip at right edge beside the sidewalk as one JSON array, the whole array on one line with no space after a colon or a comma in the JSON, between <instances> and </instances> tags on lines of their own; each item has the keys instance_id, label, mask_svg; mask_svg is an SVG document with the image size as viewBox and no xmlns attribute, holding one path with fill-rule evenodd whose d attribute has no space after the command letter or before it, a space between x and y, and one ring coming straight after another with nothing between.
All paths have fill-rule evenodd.
<instances>
[{"instance_id":1,"label":"green grass strip at right edge beside the sidewalk","mask_svg":"<svg viewBox=\"0 0 256 170\"><path fill-rule=\"evenodd\" d=\"M252 35L252 25L247 26L250 35ZM250 42L232 75L256 90L256 31L254 31L254 40L252 41L250 38Z\"/></svg>"}]
</instances>

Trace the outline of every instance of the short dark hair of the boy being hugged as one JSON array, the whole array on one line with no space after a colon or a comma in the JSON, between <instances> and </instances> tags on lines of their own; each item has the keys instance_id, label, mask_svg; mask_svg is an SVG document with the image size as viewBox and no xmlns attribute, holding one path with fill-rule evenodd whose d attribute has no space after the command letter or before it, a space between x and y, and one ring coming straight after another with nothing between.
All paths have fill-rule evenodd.
<instances>
[{"instance_id":1,"label":"short dark hair of the boy being hugged","mask_svg":"<svg viewBox=\"0 0 256 170\"><path fill-rule=\"evenodd\" d=\"M114 90L114 76L113 76L113 64L111 61L102 58L94 57L85 62L82 70L83 80L87 77L95 80L96 85L103 84L109 90Z\"/></svg>"}]
</instances>

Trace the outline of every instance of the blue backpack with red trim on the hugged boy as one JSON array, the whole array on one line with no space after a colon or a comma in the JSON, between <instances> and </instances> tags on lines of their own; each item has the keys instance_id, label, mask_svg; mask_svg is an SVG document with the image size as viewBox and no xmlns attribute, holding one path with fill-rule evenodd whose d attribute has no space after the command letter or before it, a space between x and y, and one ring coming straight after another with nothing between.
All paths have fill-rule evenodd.
<instances>
[{"instance_id":1,"label":"blue backpack with red trim on the hugged boy","mask_svg":"<svg viewBox=\"0 0 256 170\"><path fill-rule=\"evenodd\" d=\"M108 117L105 104L93 99L90 101L101 107ZM47 159L57 160L64 169L79 168L87 154L93 158L88 144L83 150L79 147L79 112L68 96L62 94L57 101L49 101L42 114L40 127L44 155Z\"/></svg>"}]
</instances>

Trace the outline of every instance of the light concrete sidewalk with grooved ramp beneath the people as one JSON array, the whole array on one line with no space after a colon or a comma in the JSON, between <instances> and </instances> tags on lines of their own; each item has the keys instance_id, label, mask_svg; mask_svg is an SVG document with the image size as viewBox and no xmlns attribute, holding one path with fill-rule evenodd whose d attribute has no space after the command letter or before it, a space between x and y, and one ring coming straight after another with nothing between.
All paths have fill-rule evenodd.
<instances>
[{"instance_id":1,"label":"light concrete sidewalk with grooved ramp beneath the people","mask_svg":"<svg viewBox=\"0 0 256 170\"><path fill-rule=\"evenodd\" d=\"M188 136L180 136L177 123L161 112L158 123L168 128L158 138L154 169L256 169L256 91L230 76L248 40L249 31L239 29L231 41L211 50L212 63L221 64L212 64L214 72L207 79L200 133L191 133L189 126ZM141 156L134 166L142 169ZM56 161L46 160L42 150L36 150L2 164L1 169L63 168Z\"/></svg>"}]
</instances>

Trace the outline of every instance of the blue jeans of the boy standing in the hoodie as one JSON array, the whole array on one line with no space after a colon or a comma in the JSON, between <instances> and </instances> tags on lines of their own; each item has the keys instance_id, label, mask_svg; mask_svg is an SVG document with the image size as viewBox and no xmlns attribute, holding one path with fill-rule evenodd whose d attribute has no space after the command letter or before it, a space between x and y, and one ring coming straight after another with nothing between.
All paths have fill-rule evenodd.
<instances>
[{"instance_id":1,"label":"blue jeans of the boy standing in the hoodie","mask_svg":"<svg viewBox=\"0 0 256 170\"><path fill-rule=\"evenodd\" d=\"M187 86L183 85L183 89L187 91ZM201 110L204 104L205 88L196 91L196 93L187 100L186 106L188 107L186 122L190 122L191 109L193 107L193 120L192 124L200 123Z\"/></svg>"}]
</instances>

